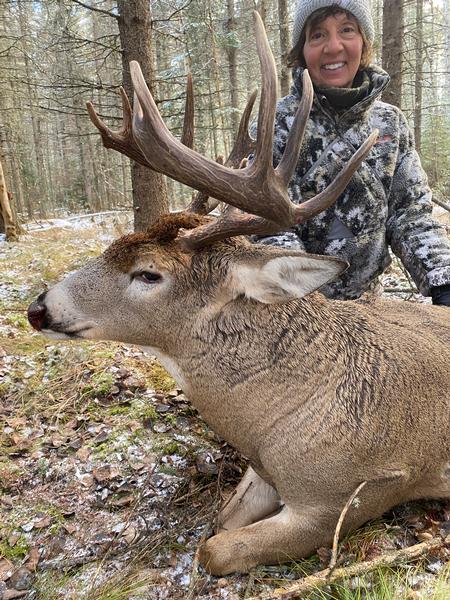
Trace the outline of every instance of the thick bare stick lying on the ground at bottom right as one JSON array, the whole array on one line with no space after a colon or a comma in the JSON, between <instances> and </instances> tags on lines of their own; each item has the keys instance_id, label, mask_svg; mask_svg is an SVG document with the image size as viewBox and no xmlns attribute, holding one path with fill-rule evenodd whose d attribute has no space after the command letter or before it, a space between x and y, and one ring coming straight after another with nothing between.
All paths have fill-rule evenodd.
<instances>
[{"instance_id":1,"label":"thick bare stick lying on the ground at bottom right","mask_svg":"<svg viewBox=\"0 0 450 600\"><path fill-rule=\"evenodd\" d=\"M380 567L395 567L411 560L417 560L428 554L430 550L440 548L442 544L441 538L433 538L415 546L409 546L408 548L402 548L394 552L387 552L372 560L355 563L349 567L340 567L334 570L331 577L329 577L329 569L318 571L287 588L279 588L258 597L254 596L248 600L291 600L293 598L301 598L303 594L317 591L326 585L336 583L340 579L359 577Z\"/></svg>"}]
</instances>

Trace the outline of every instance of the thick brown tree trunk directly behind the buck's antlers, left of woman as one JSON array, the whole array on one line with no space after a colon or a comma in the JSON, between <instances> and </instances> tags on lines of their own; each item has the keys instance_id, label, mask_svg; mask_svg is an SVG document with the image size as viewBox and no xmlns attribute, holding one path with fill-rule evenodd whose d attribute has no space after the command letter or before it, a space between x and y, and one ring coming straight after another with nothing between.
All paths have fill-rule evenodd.
<instances>
[{"instance_id":1,"label":"thick brown tree trunk directly behind the buck's antlers, left of woman","mask_svg":"<svg viewBox=\"0 0 450 600\"><path fill-rule=\"evenodd\" d=\"M130 99L133 89L130 61L139 61L150 91L154 92L154 66L150 3L148 0L118 0L118 25L122 46L123 87ZM164 177L142 165L131 164L134 229L143 231L162 213L169 211Z\"/></svg>"}]
</instances>

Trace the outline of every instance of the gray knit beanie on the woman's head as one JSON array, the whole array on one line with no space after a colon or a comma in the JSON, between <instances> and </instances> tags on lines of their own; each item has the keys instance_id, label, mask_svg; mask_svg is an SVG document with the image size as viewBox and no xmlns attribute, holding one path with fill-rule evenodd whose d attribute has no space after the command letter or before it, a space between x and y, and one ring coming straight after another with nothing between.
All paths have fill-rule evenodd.
<instances>
[{"instance_id":1,"label":"gray knit beanie on the woman's head","mask_svg":"<svg viewBox=\"0 0 450 600\"><path fill-rule=\"evenodd\" d=\"M314 11L319 8L334 5L352 13L358 20L358 23L369 42L373 42L375 38L375 27L370 12L370 0L298 0L294 17L294 28L292 31L292 46L297 44L308 17L312 15Z\"/></svg>"}]
</instances>

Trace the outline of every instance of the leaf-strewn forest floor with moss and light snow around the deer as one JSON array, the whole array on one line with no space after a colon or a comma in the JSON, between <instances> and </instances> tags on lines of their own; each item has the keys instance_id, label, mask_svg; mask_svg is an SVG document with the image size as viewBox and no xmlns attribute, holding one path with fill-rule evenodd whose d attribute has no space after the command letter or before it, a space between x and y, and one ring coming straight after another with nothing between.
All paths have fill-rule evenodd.
<instances>
[{"instance_id":1,"label":"leaf-strewn forest floor with moss and light snow around the deer","mask_svg":"<svg viewBox=\"0 0 450 600\"><path fill-rule=\"evenodd\" d=\"M28 303L126 228L111 216L56 225L0 241L0 600L255 599L324 569L326 548L250 575L197 569L245 461L139 349L31 330ZM386 282L409 285L395 270ZM449 534L449 503L398 507L345 538L338 566L442 544L301 597L444 600Z\"/></svg>"}]
</instances>

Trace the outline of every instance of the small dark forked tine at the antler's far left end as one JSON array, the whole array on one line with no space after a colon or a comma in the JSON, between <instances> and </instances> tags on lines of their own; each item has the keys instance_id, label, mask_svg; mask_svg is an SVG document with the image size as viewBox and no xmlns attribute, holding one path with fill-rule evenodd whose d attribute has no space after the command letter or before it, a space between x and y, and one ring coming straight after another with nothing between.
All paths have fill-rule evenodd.
<instances>
[{"instance_id":1,"label":"small dark forked tine at the antler's far left end","mask_svg":"<svg viewBox=\"0 0 450 600\"><path fill-rule=\"evenodd\" d=\"M105 123L100 119L98 114L95 112L94 105L92 102L86 102L86 108L89 113L89 117L92 123L100 131L103 145L105 148L112 148L117 150L121 154L125 154L129 158L138 162L145 167L150 167L148 160L145 155L136 144L132 132L132 113L130 101L125 93L125 90L121 87L119 89L122 97L122 113L123 122L122 127L118 131L112 131Z\"/></svg>"}]
</instances>

